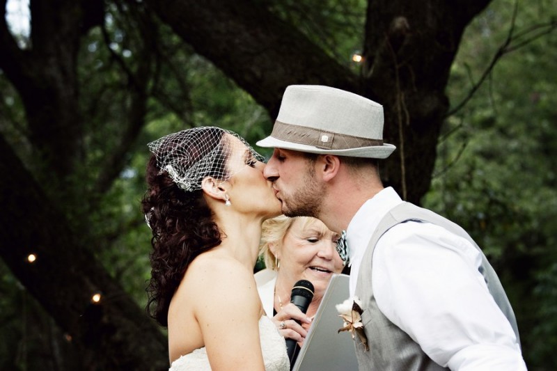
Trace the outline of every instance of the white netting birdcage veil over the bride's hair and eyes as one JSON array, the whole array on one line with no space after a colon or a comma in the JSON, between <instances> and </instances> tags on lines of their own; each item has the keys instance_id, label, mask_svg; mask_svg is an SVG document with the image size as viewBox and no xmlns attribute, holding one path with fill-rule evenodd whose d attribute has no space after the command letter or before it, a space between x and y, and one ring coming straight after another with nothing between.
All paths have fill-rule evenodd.
<instances>
[{"instance_id":1,"label":"white netting birdcage veil over the bride's hair and eyes","mask_svg":"<svg viewBox=\"0 0 557 371\"><path fill-rule=\"evenodd\" d=\"M201 189L207 176L225 182L254 160L264 161L245 139L220 127L182 130L148 143L148 147L160 171L166 171L185 191ZM229 161L235 161L235 166Z\"/></svg>"}]
</instances>

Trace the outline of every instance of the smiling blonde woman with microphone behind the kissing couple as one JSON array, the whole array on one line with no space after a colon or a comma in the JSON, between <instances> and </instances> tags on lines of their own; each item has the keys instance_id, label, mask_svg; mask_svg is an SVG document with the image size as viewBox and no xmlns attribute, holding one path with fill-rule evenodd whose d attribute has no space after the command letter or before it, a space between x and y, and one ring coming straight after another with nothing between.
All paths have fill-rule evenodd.
<instances>
[{"instance_id":1,"label":"smiling blonde woman with microphone behind the kissing couple","mask_svg":"<svg viewBox=\"0 0 557 371\"><path fill-rule=\"evenodd\" d=\"M281 335L296 340L299 346L331 276L343 271L343 260L336 252L337 239L338 235L322 221L309 216L281 215L263 223L260 255L267 269L256 273L258 292L265 313L272 317ZM299 280L310 281L315 289L305 315L290 303L292 287Z\"/></svg>"}]
</instances>

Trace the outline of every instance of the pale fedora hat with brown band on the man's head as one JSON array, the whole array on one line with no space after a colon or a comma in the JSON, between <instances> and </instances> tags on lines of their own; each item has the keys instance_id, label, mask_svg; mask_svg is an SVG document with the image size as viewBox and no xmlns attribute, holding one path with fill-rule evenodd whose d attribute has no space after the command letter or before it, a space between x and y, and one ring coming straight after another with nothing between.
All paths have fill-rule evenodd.
<instances>
[{"instance_id":1,"label":"pale fedora hat with brown band on the man's head","mask_svg":"<svg viewBox=\"0 0 557 371\"><path fill-rule=\"evenodd\" d=\"M290 85L263 148L322 155L389 157L395 146L383 143L383 106L345 90Z\"/></svg>"}]
</instances>

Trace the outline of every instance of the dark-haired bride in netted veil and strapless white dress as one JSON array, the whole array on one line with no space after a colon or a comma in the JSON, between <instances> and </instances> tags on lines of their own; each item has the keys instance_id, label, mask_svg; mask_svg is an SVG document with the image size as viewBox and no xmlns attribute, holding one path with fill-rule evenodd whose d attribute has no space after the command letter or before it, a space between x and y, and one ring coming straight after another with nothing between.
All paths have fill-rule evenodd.
<instances>
[{"instance_id":1,"label":"dark-haired bride in netted veil and strapless white dress","mask_svg":"<svg viewBox=\"0 0 557 371\"><path fill-rule=\"evenodd\" d=\"M281 213L262 158L218 127L169 134L149 148L148 312L168 326L171 370L289 370L253 278L261 224Z\"/></svg>"}]
</instances>

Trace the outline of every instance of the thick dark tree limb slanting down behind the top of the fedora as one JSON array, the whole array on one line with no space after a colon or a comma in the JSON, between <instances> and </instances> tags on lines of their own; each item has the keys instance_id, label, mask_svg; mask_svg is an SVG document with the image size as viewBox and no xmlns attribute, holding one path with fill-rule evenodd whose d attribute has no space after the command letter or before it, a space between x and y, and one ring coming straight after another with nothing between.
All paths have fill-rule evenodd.
<instances>
[{"instance_id":1,"label":"thick dark tree limb slanting down behind the top of the fedora","mask_svg":"<svg viewBox=\"0 0 557 371\"><path fill-rule=\"evenodd\" d=\"M147 0L175 33L271 113L290 84L357 90L357 77L260 3ZM269 47L272 45L272 47Z\"/></svg>"}]
</instances>

